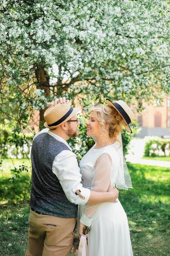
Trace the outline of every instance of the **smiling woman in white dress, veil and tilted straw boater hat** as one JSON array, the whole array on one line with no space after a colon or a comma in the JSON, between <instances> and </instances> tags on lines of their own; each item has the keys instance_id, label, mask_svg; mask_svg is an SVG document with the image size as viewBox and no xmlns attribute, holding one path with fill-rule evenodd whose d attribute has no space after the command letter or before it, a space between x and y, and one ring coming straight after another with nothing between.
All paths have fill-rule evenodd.
<instances>
[{"instance_id":1,"label":"smiling woman in white dress, veil and tilted straw boater hat","mask_svg":"<svg viewBox=\"0 0 170 256\"><path fill-rule=\"evenodd\" d=\"M109 184L119 189L132 188L130 175L123 157L122 125L132 133L129 123L132 110L122 100L91 108L86 123L87 135L95 145L80 161L83 186L98 192L108 191ZM102 203L79 207L79 236L85 226L88 234L89 256L133 256L126 213L116 203Z\"/></svg>"}]
</instances>

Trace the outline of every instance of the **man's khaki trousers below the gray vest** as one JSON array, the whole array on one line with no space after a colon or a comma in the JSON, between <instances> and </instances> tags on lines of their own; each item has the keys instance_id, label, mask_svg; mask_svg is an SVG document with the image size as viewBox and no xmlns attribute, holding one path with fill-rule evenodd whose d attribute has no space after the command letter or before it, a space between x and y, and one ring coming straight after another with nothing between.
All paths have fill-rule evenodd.
<instances>
[{"instance_id":1,"label":"man's khaki trousers below the gray vest","mask_svg":"<svg viewBox=\"0 0 170 256\"><path fill-rule=\"evenodd\" d=\"M26 256L68 256L76 218L41 215L30 209Z\"/></svg>"}]
</instances>

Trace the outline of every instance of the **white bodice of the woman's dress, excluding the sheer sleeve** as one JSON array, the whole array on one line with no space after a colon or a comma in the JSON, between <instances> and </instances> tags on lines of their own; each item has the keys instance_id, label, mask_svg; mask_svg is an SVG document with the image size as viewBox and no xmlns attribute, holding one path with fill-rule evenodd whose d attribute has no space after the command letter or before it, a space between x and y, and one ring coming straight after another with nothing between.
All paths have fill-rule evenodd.
<instances>
[{"instance_id":1,"label":"white bodice of the woman's dress, excluding the sheer sleeve","mask_svg":"<svg viewBox=\"0 0 170 256\"><path fill-rule=\"evenodd\" d=\"M109 154L112 160L111 185L115 184L116 175L119 167L119 161L120 161L120 157L116 149L118 147L117 142L100 149L96 149L95 146L96 144L87 152L87 154L85 154L85 156L80 161L80 172L82 174L82 184L85 188L88 188L88 189L91 189L91 184L95 176L94 165L96 163L96 160L101 154L103 153ZM103 158L103 161L105 161L104 158ZM104 178L105 177L103 177L103 179Z\"/></svg>"}]
</instances>

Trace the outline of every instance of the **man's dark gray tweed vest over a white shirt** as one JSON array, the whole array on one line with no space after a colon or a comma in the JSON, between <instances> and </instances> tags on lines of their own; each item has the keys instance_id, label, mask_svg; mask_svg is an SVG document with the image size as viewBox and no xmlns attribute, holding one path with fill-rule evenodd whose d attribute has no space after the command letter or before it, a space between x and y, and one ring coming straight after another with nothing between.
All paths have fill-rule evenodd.
<instances>
[{"instance_id":1,"label":"man's dark gray tweed vest over a white shirt","mask_svg":"<svg viewBox=\"0 0 170 256\"><path fill-rule=\"evenodd\" d=\"M58 178L52 172L55 157L70 150L50 134L38 135L32 144L32 188L30 207L38 212L60 218L76 218L77 205L65 196Z\"/></svg>"}]
</instances>

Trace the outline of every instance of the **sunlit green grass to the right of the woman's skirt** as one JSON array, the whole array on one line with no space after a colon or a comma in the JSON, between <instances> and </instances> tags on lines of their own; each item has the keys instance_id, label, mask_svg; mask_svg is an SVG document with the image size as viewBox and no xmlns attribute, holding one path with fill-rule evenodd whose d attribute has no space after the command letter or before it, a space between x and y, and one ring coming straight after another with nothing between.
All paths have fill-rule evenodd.
<instances>
[{"instance_id":1,"label":"sunlit green grass to the right of the woman's skirt","mask_svg":"<svg viewBox=\"0 0 170 256\"><path fill-rule=\"evenodd\" d=\"M169 255L170 169L129 164L133 189L122 191L134 255Z\"/></svg>"}]
</instances>

